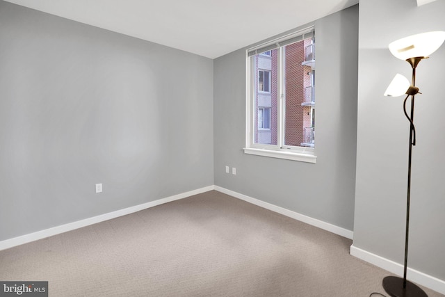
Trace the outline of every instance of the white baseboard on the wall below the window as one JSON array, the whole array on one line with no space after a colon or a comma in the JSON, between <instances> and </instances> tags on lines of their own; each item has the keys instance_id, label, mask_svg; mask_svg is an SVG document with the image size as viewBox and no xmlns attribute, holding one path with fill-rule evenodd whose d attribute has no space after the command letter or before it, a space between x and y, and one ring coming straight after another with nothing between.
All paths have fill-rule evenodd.
<instances>
[{"instance_id":1,"label":"white baseboard on the wall below the window","mask_svg":"<svg viewBox=\"0 0 445 297\"><path fill-rule=\"evenodd\" d=\"M332 225L330 223L323 222L323 220L317 220L316 218L311 218L310 216L305 216L304 214L298 214L298 212L291 211L289 209L284 209L282 207L277 207L274 204L270 204L268 202L264 202L241 193L236 193L234 191L228 190L227 188L222 188L220 186L215 186L215 190L221 193L225 193L227 195L231 195L234 198L238 198L244 200L245 202L249 202L255 204L259 207L263 207L270 211L275 211L278 214L282 214L283 216L289 216L289 218L293 218L295 220L300 220L303 223L307 223L309 225L313 225L315 227L321 228L323 230L332 232L334 234L338 234L340 236L346 237L348 239L353 239L353 232L342 227L338 227L336 225Z\"/></svg>"}]
</instances>

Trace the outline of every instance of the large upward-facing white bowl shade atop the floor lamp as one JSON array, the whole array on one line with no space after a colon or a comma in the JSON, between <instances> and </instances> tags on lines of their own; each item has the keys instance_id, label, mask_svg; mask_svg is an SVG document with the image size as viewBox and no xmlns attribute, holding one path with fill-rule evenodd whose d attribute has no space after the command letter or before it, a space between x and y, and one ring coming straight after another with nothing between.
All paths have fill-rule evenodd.
<instances>
[{"instance_id":1,"label":"large upward-facing white bowl shade atop the floor lamp","mask_svg":"<svg viewBox=\"0 0 445 297\"><path fill-rule=\"evenodd\" d=\"M444 31L432 31L411 35L389 44L389 51L396 58L407 60L414 57L426 58L434 53L445 40Z\"/></svg>"}]
</instances>

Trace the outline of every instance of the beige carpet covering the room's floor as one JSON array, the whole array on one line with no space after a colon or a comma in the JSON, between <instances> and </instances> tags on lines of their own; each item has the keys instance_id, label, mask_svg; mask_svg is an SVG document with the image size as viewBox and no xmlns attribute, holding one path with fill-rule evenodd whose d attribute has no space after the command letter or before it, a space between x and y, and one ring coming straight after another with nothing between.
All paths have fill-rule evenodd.
<instances>
[{"instance_id":1,"label":"beige carpet covering the room's floor","mask_svg":"<svg viewBox=\"0 0 445 297\"><path fill-rule=\"evenodd\" d=\"M352 241L217 191L0 251L0 280L49 296L369 296ZM426 289L429 296L444 296Z\"/></svg>"}]
</instances>

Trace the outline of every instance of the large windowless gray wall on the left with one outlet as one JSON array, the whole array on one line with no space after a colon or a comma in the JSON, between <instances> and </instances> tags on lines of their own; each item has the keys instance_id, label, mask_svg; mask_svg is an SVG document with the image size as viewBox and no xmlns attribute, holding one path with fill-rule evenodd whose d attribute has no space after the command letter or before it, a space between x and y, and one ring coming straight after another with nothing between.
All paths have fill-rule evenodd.
<instances>
[{"instance_id":1,"label":"large windowless gray wall on the left with one outlet","mask_svg":"<svg viewBox=\"0 0 445 297\"><path fill-rule=\"evenodd\" d=\"M0 1L0 166L0 241L212 185L213 61Z\"/></svg>"}]
</instances>

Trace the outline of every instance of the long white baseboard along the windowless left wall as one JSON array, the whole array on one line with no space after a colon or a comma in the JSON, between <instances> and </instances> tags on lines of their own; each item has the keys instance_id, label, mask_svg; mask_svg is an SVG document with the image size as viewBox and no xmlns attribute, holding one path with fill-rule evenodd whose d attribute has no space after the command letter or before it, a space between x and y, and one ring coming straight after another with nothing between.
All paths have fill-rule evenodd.
<instances>
[{"instance_id":1,"label":"long white baseboard along the windowless left wall","mask_svg":"<svg viewBox=\"0 0 445 297\"><path fill-rule=\"evenodd\" d=\"M188 191L185 193L180 193L177 195L172 195L170 197L167 198L162 198L159 200L154 200L152 202L147 202L144 204L139 204L133 207L128 207L126 209L120 209L118 211L112 211L109 212L108 214L102 214L99 216L94 216L92 218L86 218L84 220L78 220L76 222L73 223L67 223L65 225L60 225L60 226L56 226L56 227L52 227L46 230L41 230L38 232L34 232L31 234L26 234L23 236L18 236L12 239L6 239L4 241L0 241L0 250L6 250L7 248L13 248L15 246L20 246L24 243L29 243L31 241L37 241L39 239L44 239L47 238L49 236L53 236L53 235L57 235L57 234L61 234L64 232L68 232L71 230L76 230L79 229L81 227L86 227L89 225L93 225L96 223L100 223L103 222L104 220L111 220L112 218L118 218L120 216L126 216L127 214L133 214L134 212L137 211L141 211L143 209L148 209L150 207L155 207L157 205L160 204L164 204L167 202L172 202L175 200L180 200L183 198L187 198L189 196L192 195L197 195L200 193L204 193L204 192L208 192L214 189L214 186L206 186L204 188L198 188L197 190L193 190L193 191Z\"/></svg>"}]
</instances>

